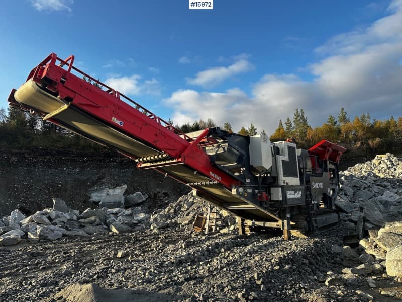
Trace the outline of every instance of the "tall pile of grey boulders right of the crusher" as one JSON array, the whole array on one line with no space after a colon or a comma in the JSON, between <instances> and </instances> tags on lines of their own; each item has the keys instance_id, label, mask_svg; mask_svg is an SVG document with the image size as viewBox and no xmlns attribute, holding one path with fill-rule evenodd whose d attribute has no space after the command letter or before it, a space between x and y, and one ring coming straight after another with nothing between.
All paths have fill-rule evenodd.
<instances>
[{"instance_id":1,"label":"tall pile of grey boulders right of the crusher","mask_svg":"<svg viewBox=\"0 0 402 302\"><path fill-rule=\"evenodd\" d=\"M357 284L359 276L371 275L368 286L376 288L379 276L398 280L402 277L402 159L389 153L377 155L341 172L340 183L335 205L344 213L348 233L360 240L359 248L351 254L351 260L360 265L344 262L349 268L334 280L328 278L328 283ZM383 291L384 295L395 295Z\"/></svg>"}]
</instances>

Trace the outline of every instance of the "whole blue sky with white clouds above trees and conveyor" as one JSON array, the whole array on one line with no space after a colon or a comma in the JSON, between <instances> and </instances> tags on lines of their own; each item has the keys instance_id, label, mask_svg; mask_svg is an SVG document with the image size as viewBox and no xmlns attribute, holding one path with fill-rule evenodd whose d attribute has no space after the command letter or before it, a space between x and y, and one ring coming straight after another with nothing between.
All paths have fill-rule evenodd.
<instances>
[{"instance_id":1,"label":"whole blue sky with white clouds above trees and conveyor","mask_svg":"<svg viewBox=\"0 0 402 302\"><path fill-rule=\"evenodd\" d=\"M175 123L212 117L272 133L402 115L402 1L16 0L0 11L0 107L50 52Z\"/></svg>"}]
</instances>

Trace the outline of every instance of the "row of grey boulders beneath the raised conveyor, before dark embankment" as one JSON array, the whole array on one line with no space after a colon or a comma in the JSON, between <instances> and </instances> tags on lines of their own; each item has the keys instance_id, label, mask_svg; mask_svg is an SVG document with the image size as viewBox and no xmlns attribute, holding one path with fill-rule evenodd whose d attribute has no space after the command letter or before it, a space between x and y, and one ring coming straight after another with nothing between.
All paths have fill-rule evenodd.
<instances>
[{"instance_id":1,"label":"row of grey boulders beneath the raised conveyor, before dark embankment","mask_svg":"<svg viewBox=\"0 0 402 302\"><path fill-rule=\"evenodd\" d=\"M99 204L116 205L118 196L123 196L123 187L92 193L93 200L99 200ZM107 232L126 233L148 228L149 215L144 213L141 207L124 209L125 198L130 200L129 204L138 204L146 199L137 192L123 197L123 200L119 201L122 207L88 208L80 213L70 209L63 200L53 198L53 208L38 211L28 217L20 210L14 210L10 216L0 219L0 245L15 245L24 239L55 240L61 237L90 236Z\"/></svg>"}]
</instances>

